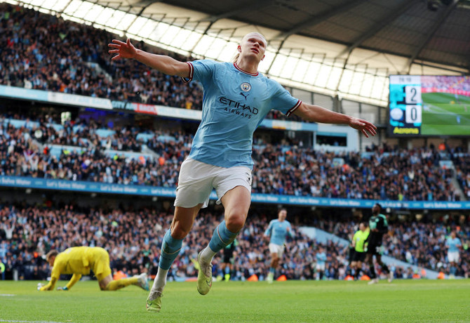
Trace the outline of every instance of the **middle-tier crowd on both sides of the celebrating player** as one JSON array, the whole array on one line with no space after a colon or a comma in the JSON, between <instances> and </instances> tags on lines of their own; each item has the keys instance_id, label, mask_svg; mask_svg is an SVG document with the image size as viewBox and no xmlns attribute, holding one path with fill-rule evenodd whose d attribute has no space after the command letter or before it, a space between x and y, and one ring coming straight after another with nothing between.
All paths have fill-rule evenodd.
<instances>
[{"instance_id":1,"label":"middle-tier crowd on both sides of the celebrating player","mask_svg":"<svg viewBox=\"0 0 470 323\"><path fill-rule=\"evenodd\" d=\"M66 121L60 130L36 119L39 126L14 126L18 115L0 116L0 175L32 176L94 182L176 187L181 162L189 154L192 135L182 131L152 131L138 127L112 129L98 136L102 125L95 121ZM48 121L53 121L48 119ZM137 134L149 138L137 140ZM168 141L169 140L169 141ZM119 152L140 152L145 143L155 154L140 159ZM54 145L60 156L50 153ZM41 147L41 148L40 148ZM118 150L119 152L108 152ZM384 151L387 150L387 151ZM459 154L457 179L468 194L469 154ZM453 156L453 155L452 155ZM457 155L456 155L457 156ZM347 199L408 201L456 201L453 170L439 162L441 152L430 148L412 150L372 147L369 152L323 152L309 147L270 145L253 147L253 193Z\"/></svg>"}]
</instances>

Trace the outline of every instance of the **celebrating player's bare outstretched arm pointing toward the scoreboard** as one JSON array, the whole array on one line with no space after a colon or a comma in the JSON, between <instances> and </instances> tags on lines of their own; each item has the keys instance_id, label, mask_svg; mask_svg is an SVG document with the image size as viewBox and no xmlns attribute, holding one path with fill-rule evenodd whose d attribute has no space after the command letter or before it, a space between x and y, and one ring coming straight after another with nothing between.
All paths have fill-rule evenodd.
<instances>
[{"instance_id":1,"label":"celebrating player's bare outstretched arm pointing toward the scoreboard","mask_svg":"<svg viewBox=\"0 0 470 323\"><path fill-rule=\"evenodd\" d=\"M377 127L369 121L333 112L318 105L302 103L293 113L307 121L321 122L323 124L347 124L351 128L361 131L367 138L369 138L369 134L372 136L377 134Z\"/></svg>"}]
</instances>

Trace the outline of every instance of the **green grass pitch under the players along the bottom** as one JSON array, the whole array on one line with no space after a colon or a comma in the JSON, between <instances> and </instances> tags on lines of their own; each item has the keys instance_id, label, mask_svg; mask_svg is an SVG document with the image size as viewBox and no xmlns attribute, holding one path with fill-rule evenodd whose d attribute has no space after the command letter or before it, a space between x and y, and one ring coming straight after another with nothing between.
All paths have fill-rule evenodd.
<instances>
[{"instance_id":1,"label":"green grass pitch under the players along the bottom","mask_svg":"<svg viewBox=\"0 0 470 323\"><path fill-rule=\"evenodd\" d=\"M64 282L60 282L62 286ZM160 313L147 291L36 291L37 282L0 281L0 322L470 322L470 279L217 282L206 296L195 282L168 283Z\"/></svg>"}]
</instances>

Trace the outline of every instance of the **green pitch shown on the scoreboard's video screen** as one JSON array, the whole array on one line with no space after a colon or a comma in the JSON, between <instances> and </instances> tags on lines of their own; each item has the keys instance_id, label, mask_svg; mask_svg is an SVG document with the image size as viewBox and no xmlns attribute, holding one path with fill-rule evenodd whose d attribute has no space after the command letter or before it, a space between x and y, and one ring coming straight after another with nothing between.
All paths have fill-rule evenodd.
<instances>
[{"instance_id":1,"label":"green pitch shown on the scoreboard's video screen","mask_svg":"<svg viewBox=\"0 0 470 323\"><path fill-rule=\"evenodd\" d=\"M470 136L470 98L449 93L422 93L421 134L425 136ZM457 121L457 117L460 123Z\"/></svg>"}]
</instances>

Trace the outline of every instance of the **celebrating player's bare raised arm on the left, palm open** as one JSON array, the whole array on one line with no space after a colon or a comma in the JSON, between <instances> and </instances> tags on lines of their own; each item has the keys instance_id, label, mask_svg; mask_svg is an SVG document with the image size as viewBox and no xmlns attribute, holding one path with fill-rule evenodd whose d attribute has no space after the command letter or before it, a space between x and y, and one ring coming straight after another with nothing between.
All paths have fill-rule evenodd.
<instances>
[{"instance_id":1,"label":"celebrating player's bare raised arm on the left, palm open","mask_svg":"<svg viewBox=\"0 0 470 323\"><path fill-rule=\"evenodd\" d=\"M117 54L111 60L119 60L121 58L135 59L143 64L158 70L164 74L177 75L178 77L189 77L189 65L186 62L180 62L170 56L156 55L141 51L130 43L130 39L126 42L113 39L111 44L108 44L110 49L108 52Z\"/></svg>"}]
</instances>

